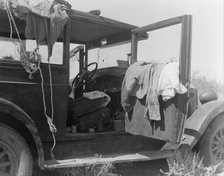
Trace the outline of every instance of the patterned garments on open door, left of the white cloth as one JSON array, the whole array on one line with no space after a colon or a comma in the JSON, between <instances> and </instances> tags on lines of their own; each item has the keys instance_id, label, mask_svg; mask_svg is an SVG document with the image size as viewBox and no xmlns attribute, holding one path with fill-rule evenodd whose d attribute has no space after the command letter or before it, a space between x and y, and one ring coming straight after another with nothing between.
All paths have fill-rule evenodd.
<instances>
[{"instance_id":1,"label":"patterned garments on open door, left of the white cloth","mask_svg":"<svg viewBox=\"0 0 224 176\"><path fill-rule=\"evenodd\" d=\"M123 108L130 112L135 99L145 100L144 116L150 120L160 120L157 95L158 80L164 64L136 62L131 65L122 83L121 101Z\"/></svg>"}]
</instances>

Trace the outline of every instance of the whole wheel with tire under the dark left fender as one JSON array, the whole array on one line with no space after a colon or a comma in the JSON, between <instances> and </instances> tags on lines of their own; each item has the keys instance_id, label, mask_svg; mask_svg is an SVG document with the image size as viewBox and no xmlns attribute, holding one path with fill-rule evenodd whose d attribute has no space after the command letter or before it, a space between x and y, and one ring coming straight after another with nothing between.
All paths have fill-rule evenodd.
<instances>
[{"instance_id":1,"label":"whole wheel with tire under the dark left fender","mask_svg":"<svg viewBox=\"0 0 224 176\"><path fill-rule=\"evenodd\" d=\"M25 139L0 123L0 175L32 176L33 160Z\"/></svg>"}]
</instances>

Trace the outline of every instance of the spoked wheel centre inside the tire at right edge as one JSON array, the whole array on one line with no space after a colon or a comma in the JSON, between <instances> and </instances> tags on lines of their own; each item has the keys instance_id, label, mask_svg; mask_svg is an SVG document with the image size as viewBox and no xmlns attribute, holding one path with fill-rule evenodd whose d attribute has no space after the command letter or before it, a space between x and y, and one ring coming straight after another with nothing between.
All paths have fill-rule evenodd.
<instances>
[{"instance_id":1,"label":"spoked wheel centre inside the tire at right edge","mask_svg":"<svg viewBox=\"0 0 224 176\"><path fill-rule=\"evenodd\" d=\"M224 129L218 129L213 135L210 149L215 163L224 161Z\"/></svg>"}]
</instances>

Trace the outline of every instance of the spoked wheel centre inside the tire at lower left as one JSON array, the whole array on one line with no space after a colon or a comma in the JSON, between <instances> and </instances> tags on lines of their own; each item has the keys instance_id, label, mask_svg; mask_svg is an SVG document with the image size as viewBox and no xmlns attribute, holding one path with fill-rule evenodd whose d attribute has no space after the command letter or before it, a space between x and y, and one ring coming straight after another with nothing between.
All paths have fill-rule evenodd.
<instances>
[{"instance_id":1,"label":"spoked wheel centre inside the tire at lower left","mask_svg":"<svg viewBox=\"0 0 224 176\"><path fill-rule=\"evenodd\" d=\"M0 175L13 176L18 162L14 150L4 141L0 140Z\"/></svg>"}]
</instances>

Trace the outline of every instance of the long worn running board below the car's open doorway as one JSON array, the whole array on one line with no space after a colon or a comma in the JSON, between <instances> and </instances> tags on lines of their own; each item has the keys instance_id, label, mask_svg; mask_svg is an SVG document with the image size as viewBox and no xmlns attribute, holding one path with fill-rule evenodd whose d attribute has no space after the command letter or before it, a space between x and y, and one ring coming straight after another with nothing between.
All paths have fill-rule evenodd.
<instances>
[{"instance_id":1,"label":"long worn running board below the car's open doorway","mask_svg":"<svg viewBox=\"0 0 224 176\"><path fill-rule=\"evenodd\" d=\"M136 162L136 161L149 161L156 159L163 159L173 156L173 151L148 151L139 152L134 154L115 154L105 156L95 156L89 158L77 158L69 160L50 160L45 161L45 169L56 169L56 168L69 168L69 167L80 167L92 164L106 164L106 163L125 163L125 162Z\"/></svg>"}]
</instances>

